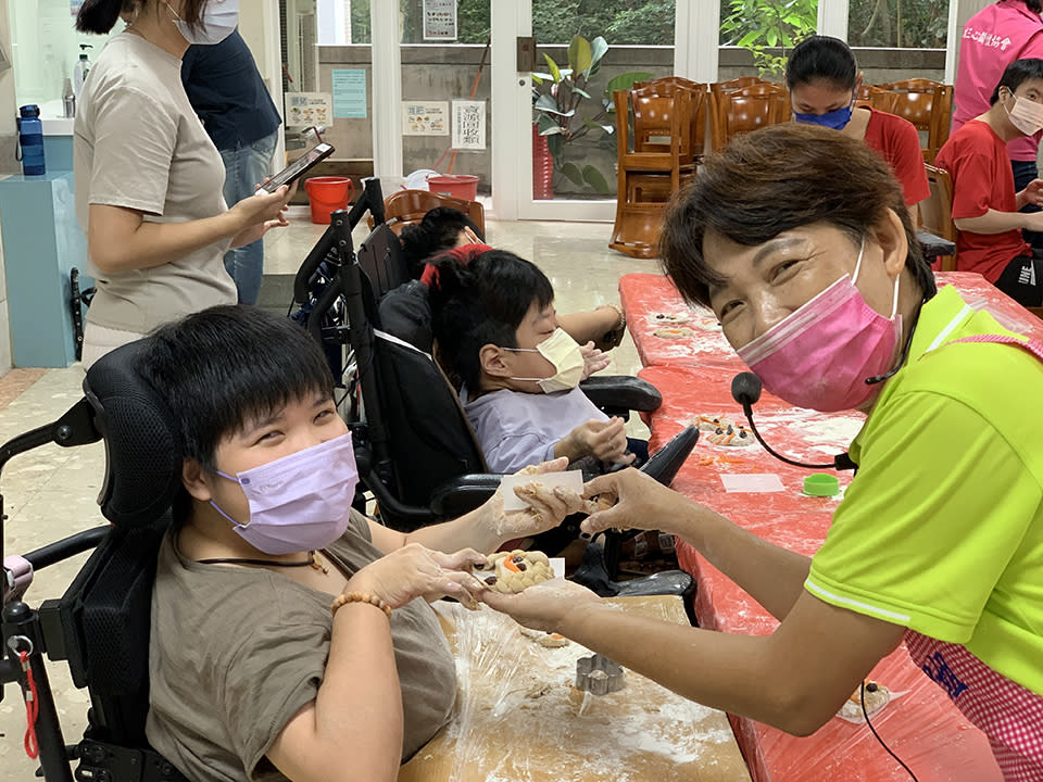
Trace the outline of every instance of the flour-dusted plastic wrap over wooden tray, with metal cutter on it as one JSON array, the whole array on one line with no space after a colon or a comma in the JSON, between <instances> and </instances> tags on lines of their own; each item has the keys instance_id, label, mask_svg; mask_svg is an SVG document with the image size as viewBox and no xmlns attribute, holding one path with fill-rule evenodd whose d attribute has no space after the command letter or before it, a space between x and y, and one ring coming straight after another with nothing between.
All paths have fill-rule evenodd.
<instances>
[{"instance_id":1,"label":"flour-dusted plastic wrap over wooden tray, with metal cutter on it","mask_svg":"<svg viewBox=\"0 0 1043 782\"><path fill-rule=\"evenodd\" d=\"M634 601L642 613L683 618L676 598L627 598L628 610ZM750 780L722 712L629 669L617 692L580 692L576 660L591 654L587 648L544 647L487 607L439 610L455 626L449 632L457 659L455 715L403 767L400 782Z\"/></svg>"}]
</instances>

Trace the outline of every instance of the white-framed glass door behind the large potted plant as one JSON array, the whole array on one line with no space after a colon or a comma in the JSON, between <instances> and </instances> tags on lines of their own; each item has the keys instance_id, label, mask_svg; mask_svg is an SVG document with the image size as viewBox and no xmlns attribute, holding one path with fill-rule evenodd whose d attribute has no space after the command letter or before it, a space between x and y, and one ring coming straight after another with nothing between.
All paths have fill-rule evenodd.
<instances>
[{"instance_id":1,"label":"white-framed glass door behind the large potted plant","mask_svg":"<svg viewBox=\"0 0 1043 782\"><path fill-rule=\"evenodd\" d=\"M494 135L518 150L495 166L501 187L511 179L517 191L516 199L493 199L498 214L612 220L617 159L612 92L675 72L675 0L495 5L493 40L498 48L506 42L508 51L494 59L494 94L512 109L499 122L514 127ZM535 39L531 63L518 42L527 37Z\"/></svg>"}]
</instances>

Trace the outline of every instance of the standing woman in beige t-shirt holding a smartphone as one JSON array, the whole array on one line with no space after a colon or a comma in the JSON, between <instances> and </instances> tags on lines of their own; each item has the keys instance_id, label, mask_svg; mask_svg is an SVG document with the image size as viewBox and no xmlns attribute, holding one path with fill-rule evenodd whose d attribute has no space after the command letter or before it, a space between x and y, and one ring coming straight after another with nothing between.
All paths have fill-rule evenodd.
<instances>
[{"instance_id":1,"label":"standing woman in beige t-shirt holding a smartphone","mask_svg":"<svg viewBox=\"0 0 1043 782\"><path fill-rule=\"evenodd\" d=\"M221 154L181 84L192 43L236 28L238 0L86 0L81 33L127 28L105 46L84 84L74 130L76 211L97 294L83 361L214 304L235 304L224 255L287 225L290 187L229 209Z\"/></svg>"}]
</instances>

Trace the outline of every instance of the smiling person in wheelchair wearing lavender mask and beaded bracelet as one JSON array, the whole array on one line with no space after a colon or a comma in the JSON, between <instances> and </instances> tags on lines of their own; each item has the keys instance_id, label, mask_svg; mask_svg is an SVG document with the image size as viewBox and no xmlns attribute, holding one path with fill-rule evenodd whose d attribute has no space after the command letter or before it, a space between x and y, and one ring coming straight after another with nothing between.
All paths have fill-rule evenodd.
<instances>
[{"instance_id":1,"label":"smiling person in wheelchair wearing lavender mask and beaded bracelet","mask_svg":"<svg viewBox=\"0 0 1043 782\"><path fill-rule=\"evenodd\" d=\"M348 764L394 779L455 698L426 601L472 603L482 553L582 500L529 484L526 510L498 492L410 534L368 519L322 350L261 310L161 327L140 371L186 455L152 595L150 743L193 780L328 780Z\"/></svg>"}]
</instances>

